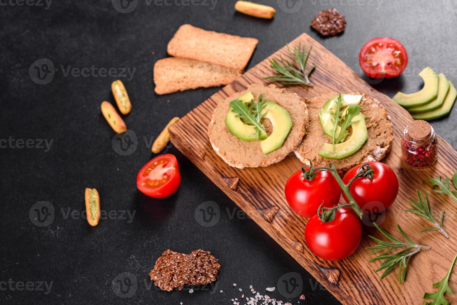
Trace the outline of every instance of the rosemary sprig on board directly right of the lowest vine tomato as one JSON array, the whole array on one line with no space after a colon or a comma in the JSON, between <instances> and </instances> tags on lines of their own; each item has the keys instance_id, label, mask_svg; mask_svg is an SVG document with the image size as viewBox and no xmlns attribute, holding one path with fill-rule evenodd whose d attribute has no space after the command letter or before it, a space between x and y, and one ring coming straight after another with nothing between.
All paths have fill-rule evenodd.
<instances>
[{"instance_id":1,"label":"rosemary sprig on board directly right of the lowest vine tomato","mask_svg":"<svg viewBox=\"0 0 457 305\"><path fill-rule=\"evenodd\" d=\"M369 235L369 237L374 240L375 242L378 242L374 247L367 247L367 249L374 250L370 254L374 254L383 250L386 250L386 252L383 252L381 255L377 256L376 258L370 259L368 262L374 262L378 260L385 260L383 263L381 263L381 266L375 270L375 272L384 270L383 274L381 275L381 279L383 279L388 273L390 273L393 268L395 268L397 265L399 267L399 283L401 284L402 282L405 281L406 279L406 271L408 269L408 262L409 259L416 253L420 252L420 249L430 249L430 247L427 246L421 246L413 242L405 233L404 231L400 228L400 226L397 224L397 228L400 232L400 234L407 240L407 242L402 242L398 238L393 237L391 234L389 234L388 231L385 231L381 229L376 223L373 222L373 224L376 226L376 228L385 236L387 239L390 241L383 241L379 238L373 237ZM406 249L397 252L395 254L388 254L395 248L404 248ZM415 250L413 250L415 249ZM403 266L403 273L402 273L402 266Z\"/></svg>"}]
</instances>

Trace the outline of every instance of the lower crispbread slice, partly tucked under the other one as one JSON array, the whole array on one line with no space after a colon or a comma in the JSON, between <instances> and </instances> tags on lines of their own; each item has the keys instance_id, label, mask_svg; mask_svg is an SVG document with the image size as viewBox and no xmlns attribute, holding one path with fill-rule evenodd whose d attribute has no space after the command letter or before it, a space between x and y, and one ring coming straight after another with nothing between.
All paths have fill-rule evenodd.
<instances>
[{"instance_id":1,"label":"lower crispbread slice, partly tucked under the other one","mask_svg":"<svg viewBox=\"0 0 457 305\"><path fill-rule=\"evenodd\" d=\"M221 86L231 83L240 74L240 71L212 63L169 57L154 64L154 91L157 94L167 94L199 87Z\"/></svg>"}]
</instances>

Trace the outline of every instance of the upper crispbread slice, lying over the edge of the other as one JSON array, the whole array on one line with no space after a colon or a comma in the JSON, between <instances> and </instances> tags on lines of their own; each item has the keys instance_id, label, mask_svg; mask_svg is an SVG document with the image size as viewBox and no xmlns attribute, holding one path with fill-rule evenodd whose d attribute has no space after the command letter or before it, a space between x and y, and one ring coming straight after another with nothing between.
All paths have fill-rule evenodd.
<instances>
[{"instance_id":1,"label":"upper crispbread slice, lying over the edge of the other","mask_svg":"<svg viewBox=\"0 0 457 305\"><path fill-rule=\"evenodd\" d=\"M257 42L255 38L205 31L190 24L184 24L168 42L167 52L171 56L243 70Z\"/></svg>"}]
</instances>

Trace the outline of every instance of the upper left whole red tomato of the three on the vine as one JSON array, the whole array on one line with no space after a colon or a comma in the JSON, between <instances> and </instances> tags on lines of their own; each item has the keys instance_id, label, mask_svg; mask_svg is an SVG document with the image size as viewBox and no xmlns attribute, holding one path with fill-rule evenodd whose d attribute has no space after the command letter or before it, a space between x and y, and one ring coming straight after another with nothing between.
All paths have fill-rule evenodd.
<instances>
[{"instance_id":1,"label":"upper left whole red tomato of the three on the vine","mask_svg":"<svg viewBox=\"0 0 457 305\"><path fill-rule=\"evenodd\" d=\"M287 180L284 191L292 210L307 218L317 214L322 201L324 207L338 205L341 195L340 185L327 171L317 173L313 180L309 181L303 178L303 172L299 170Z\"/></svg>"}]
</instances>

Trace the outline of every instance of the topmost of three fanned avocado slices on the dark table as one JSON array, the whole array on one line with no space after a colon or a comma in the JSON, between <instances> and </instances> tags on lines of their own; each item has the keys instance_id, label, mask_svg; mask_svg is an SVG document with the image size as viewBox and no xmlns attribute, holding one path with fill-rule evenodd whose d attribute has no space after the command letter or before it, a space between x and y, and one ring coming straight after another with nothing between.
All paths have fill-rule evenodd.
<instances>
[{"instance_id":1,"label":"topmost of three fanned avocado slices on the dark table","mask_svg":"<svg viewBox=\"0 0 457 305\"><path fill-rule=\"evenodd\" d=\"M411 94L398 92L392 100L404 108L422 106L436 99L438 95L438 75L430 67L420 71L419 76L424 80L424 87Z\"/></svg>"}]
</instances>

